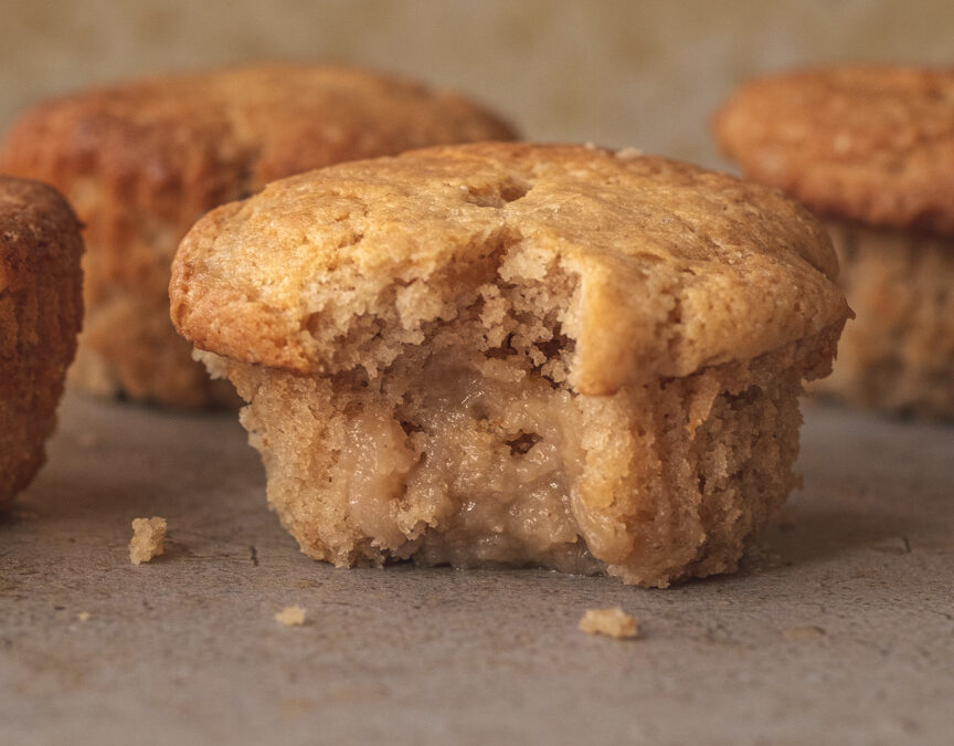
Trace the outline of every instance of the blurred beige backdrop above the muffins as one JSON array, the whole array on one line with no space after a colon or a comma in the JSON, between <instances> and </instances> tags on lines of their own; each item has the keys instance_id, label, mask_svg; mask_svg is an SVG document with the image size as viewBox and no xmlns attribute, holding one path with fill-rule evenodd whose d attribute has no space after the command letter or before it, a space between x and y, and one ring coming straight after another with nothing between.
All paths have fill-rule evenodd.
<instances>
[{"instance_id":1,"label":"blurred beige backdrop above the muffins","mask_svg":"<svg viewBox=\"0 0 954 746\"><path fill-rule=\"evenodd\" d=\"M740 80L825 62L945 64L946 0L0 0L0 129L46 96L146 72L294 57L402 72L537 139L718 164Z\"/></svg>"}]
</instances>

